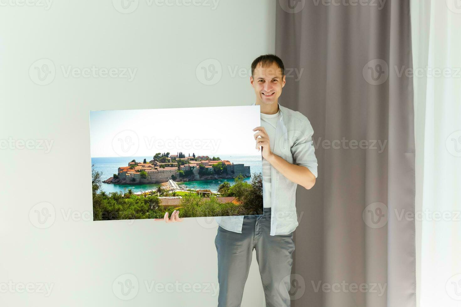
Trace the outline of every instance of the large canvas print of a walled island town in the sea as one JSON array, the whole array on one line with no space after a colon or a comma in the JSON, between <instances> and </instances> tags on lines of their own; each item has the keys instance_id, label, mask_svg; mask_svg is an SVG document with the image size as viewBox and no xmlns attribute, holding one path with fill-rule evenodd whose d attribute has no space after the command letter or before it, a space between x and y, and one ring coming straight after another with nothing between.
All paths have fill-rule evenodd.
<instances>
[{"instance_id":1,"label":"large canvas print of a walled island town in the sea","mask_svg":"<svg viewBox=\"0 0 461 307\"><path fill-rule=\"evenodd\" d=\"M93 220L263 214L260 106L90 111Z\"/></svg>"}]
</instances>

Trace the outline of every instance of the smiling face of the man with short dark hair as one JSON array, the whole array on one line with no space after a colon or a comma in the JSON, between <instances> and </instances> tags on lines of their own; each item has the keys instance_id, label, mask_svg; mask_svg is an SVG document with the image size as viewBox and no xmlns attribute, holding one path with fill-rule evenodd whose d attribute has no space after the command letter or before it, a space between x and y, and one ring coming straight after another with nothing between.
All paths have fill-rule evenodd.
<instances>
[{"instance_id":1,"label":"smiling face of the man with short dark hair","mask_svg":"<svg viewBox=\"0 0 461 307\"><path fill-rule=\"evenodd\" d=\"M253 76L250 76L251 86L256 94L256 102L259 104L277 104L278 97L282 94L282 87L285 86L285 76L277 63L271 66L256 66Z\"/></svg>"}]
</instances>

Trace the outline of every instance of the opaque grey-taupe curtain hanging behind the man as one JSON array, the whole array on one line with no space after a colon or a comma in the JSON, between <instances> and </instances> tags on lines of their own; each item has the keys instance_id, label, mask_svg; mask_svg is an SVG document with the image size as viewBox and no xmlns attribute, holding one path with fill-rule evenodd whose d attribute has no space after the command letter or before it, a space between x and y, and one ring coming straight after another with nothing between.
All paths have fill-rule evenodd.
<instances>
[{"instance_id":1,"label":"opaque grey-taupe curtain hanging behind the man","mask_svg":"<svg viewBox=\"0 0 461 307\"><path fill-rule=\"evenodd\" d=\"M297 191L295 307L416 306L410 4L382 2L277 1L279 102L307 116L319 162Z\"/></svg>"}]
</instances>

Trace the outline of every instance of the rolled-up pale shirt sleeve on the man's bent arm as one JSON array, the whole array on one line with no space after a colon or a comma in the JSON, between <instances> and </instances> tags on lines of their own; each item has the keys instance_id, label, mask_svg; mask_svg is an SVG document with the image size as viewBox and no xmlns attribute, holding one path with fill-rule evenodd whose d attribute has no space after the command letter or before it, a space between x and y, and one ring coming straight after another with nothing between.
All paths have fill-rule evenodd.
<instances>
[{"instance_id":1,"label":"rolled-up pale shirt sleeve on the man's bent arm","mask_svg":"<svg viewBox=\"0 0 461 307\"><path fill-rule=\"evenodd\" d=\"M318 164L312 140L313 133L311 123L306 118L301 130L295 133L295 142L291 146L291 154L296 165L307 167L315 178L317 178Z\"/></svg>"}]
</instances>

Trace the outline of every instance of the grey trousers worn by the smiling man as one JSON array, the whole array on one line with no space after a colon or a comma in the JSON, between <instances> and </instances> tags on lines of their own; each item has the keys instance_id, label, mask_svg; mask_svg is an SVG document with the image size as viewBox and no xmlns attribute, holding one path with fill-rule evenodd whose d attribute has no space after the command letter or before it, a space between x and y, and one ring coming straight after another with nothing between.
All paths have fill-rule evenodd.
<instances>
[{"instance_id":1,"label":"grey trousers worn by the smiling man","mask_svg":"<svg viewBox=\"0 0 461 307\"><path fill-rule=\"evenodd\" d=\"M218 307L240 307L243 288L256 250L266 306L290 306L290 282L295 242L293 232L271 236L271 209L243 218L242 233L218 227ZM285 280L288 282L285 282Z\"/></svg>"}]
</instances>

